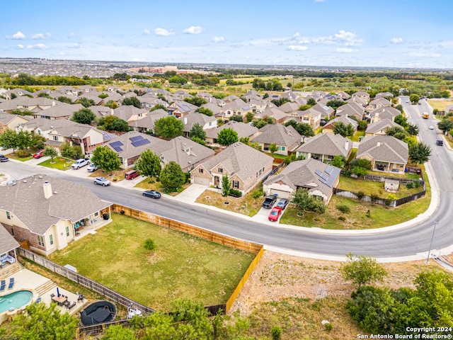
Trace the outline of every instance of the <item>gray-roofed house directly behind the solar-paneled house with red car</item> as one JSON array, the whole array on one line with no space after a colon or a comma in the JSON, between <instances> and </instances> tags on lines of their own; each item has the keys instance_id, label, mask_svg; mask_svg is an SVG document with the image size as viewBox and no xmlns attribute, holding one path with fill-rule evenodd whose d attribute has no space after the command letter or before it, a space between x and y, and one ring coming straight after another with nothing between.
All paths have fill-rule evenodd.
<instances>
[{"instance_id":1,"label":"gray-roofed house directly behind the solar-paneled house with red car","mask_svg":"<svg viewBox=\"0 0 453 340\"><path fill-rule=\"evenodd\" d=\"M343 156L348 159L352 151L352 142L342 135L320 133L311 137L296 150L296 157L319 159L321 162L332 162L333 157Z\"/></svg>"}]
</instances>

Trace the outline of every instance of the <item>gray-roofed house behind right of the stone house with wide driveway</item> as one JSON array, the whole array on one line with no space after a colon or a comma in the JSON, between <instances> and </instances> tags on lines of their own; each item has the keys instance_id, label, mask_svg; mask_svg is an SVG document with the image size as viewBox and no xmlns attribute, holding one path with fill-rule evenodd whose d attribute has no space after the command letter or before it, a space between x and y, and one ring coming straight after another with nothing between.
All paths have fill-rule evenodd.
<instances>
[{"instance_id":1,"label":"gray-roofed house behind right of the stone house with wide driveway","mask_svg":"<svg viewBox=\"0 0 453 340\"><path fill-rule=\"evenodd\" d=\"M299 135L291 125L285 126L281 124L268 124L258 130L258 136L254 137L251 142L256 142L260 145L261 150L269 152L269 145L275 143L277 146L276 154L288 155L289 151L293 151L299 147L302 141L302 136Z\"/></svg>"}]
</instances>

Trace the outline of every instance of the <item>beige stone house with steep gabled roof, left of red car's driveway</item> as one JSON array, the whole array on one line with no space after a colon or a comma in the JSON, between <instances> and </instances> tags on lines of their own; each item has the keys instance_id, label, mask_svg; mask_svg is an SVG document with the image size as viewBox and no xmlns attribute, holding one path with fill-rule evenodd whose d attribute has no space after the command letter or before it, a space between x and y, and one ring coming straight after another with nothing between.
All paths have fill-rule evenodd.
<instances>
[{"instance_id":1,"label":"beige stone house with steep gabled roof, left of red car's driveway","mask_svg":"<svg viewBox=\"0 0 453 340\"><path fill-rule=\"evenodd\" d=\"M222 188L222 176L228 176L231 188L246 193L273 169L273 157L236 142L214 157L195 166L191 183Z\"/></svg>"}]
</instances>

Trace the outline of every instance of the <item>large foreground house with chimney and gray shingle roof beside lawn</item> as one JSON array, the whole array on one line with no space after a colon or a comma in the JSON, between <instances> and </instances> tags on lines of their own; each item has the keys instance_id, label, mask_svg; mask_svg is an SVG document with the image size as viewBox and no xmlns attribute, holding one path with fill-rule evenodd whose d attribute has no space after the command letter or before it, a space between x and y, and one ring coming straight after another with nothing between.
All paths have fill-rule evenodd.
<instances>
[{"instance_id":1,"label":"large foreground house with chimney and gray shingle roof beside lawn","mask_svg":"<svg viewBox=\"0 0 453 340\"><path fill-rule=\"evenodd\" d=\"M96 230L111 220L112 203L85 185L47 175L34 175L0 187L0 223L17 242L49 255L77 239L76 232Z\"/></svg>"}]
</instances>

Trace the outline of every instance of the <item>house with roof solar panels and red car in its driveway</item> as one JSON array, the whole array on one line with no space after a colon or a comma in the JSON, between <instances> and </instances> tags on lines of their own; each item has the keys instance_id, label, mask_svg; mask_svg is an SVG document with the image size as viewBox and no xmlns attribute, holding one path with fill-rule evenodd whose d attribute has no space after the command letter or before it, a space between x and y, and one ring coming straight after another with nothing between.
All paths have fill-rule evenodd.
<instances>
[{"instance_id":1,"label":"house with roof solar panels and red car in its driveway","mask_svg":"<svg viewBox=\"0 0 453 340\"><path fill-rule=\"evenodd\" d=\"M304 188L310 196L322 199L327 205L338 181L340 169L310 158L291 162L280 174L269 176L263 182L263 191L266 195L290 198L294 191Z\"/></svg>"}]
</instances>

